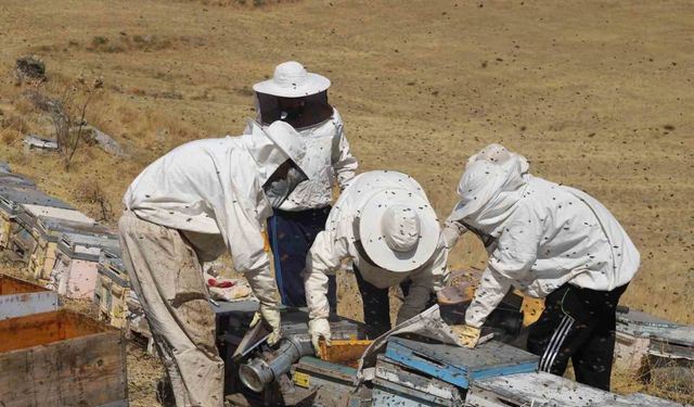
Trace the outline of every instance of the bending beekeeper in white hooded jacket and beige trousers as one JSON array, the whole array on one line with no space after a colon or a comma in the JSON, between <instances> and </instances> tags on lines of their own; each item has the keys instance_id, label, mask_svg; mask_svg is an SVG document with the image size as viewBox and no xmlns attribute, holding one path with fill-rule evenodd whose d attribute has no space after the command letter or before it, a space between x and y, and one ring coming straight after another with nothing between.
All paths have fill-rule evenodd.
<instances>
[{"instance_id":1,"label":"bending beekeeper in white hooded jacket and beige trousers","mask_svg":"<svg viewBox=\"0 0 694 407\"><path fill-rule=\"evenodd\" d=\"M260 302L254 323L280 338L264 224L305 179L305 144L287 124L183 144L132 182L119 221L123 259L171 382L177 406L222 406L223 361L202 262L224 251Z\"/></svg>"}]
</instances>

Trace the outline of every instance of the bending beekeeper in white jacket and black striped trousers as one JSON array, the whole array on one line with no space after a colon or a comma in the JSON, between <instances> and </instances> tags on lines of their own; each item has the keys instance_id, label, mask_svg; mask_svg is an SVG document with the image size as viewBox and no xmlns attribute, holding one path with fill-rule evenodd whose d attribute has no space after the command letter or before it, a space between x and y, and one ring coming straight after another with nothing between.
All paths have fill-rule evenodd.
<instances>
[{"instance_id":1,"label":"bending beekeeper in white jacket and black striped trousers","mask_svg":"<svg viewBox=\"0 0 694 407\"><path fill-rule=\"evenodd\" d=\"M466 346L511 288L545 298L528 349L540 369L563 374L569 359L577 381L608 390L616 307L639 269L640 256L617 219L595 199L528 173L525 157L491 144L471 157L447 221L480 237L489 253L480 287L454 328Z\"/></svg>"}]
</instances>

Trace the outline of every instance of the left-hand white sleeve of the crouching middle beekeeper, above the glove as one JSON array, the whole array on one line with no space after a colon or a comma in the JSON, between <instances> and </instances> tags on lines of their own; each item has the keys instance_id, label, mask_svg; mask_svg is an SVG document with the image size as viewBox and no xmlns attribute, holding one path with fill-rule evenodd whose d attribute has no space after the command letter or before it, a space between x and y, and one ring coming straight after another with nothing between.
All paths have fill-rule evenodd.
<instances>
[{"instance_id":1,"label":"left-hand white sleeve of the crouching middle beekeeper, above the glove","mask_svg":"<svg viewBox=\"0 0 694 407\"><path fill-rule=\"evenodd\" d=\"M334 234L326 230L318 233L306 256L306 268L303 272L310 319L327 318L330 315L327 276L335 274L342 260L348 256L346 238L335 239Z\"/></svg>"}]
</instances>

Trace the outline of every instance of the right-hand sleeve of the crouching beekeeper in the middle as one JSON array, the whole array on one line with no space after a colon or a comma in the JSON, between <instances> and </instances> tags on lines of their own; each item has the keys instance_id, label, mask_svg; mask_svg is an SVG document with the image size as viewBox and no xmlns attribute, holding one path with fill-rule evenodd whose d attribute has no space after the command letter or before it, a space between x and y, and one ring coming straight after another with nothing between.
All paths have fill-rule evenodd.
<instances>
[{"instance_id":1,"label":"right-hand sleeve of the crouching beekeeper in the middle","mask_svg":"<svg viewBox=\"0 0 694 407\"><path fill-rule=\"evenodd\" d=\"M407 321L424 310L433 293L446 287L448 280L448 251L438 249L434 262L412 277L412 284L398 311L397 323Z\"/></svg>"}]
</instances>

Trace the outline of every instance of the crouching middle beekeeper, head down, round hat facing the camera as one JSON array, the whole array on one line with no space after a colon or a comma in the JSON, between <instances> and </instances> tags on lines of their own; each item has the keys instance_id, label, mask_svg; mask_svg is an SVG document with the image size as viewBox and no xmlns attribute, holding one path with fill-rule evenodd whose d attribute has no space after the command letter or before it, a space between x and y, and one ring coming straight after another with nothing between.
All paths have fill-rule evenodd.
<instances>
[{"instance_id":1,"label":"crouching middle beekeeper, head down, round hat facing the camera","mask_svg":"<svg viewBox=\"0 0 694 407\"><path fill-rule=\"evenodd\" d=\"M304 278L313 346L331 340L327 276L351 259L371 338L390 329L388 288L409 280L398 323L422 311L446 284L448 252L422 187L398 171L357 176L335 203L306 259Z\"/></svg>"}]
</instances>

